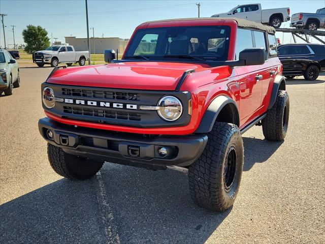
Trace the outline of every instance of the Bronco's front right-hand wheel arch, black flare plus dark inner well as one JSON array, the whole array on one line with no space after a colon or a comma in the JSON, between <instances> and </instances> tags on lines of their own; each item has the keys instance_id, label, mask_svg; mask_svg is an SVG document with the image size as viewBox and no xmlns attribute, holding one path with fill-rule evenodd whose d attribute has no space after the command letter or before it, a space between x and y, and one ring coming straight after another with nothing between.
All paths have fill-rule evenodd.
<instances>
[{"instance_id":1,"label":"Bronco's front right-hand wheel arch, black flare plus dark inner well","mask_svg":"<svg viewBox=\"0 0 325 244\"><path fill-rule=\"evenodd\" d=\"M236 102L230 97L220 95L208 106L195 133L208 133L214 123L225 122L239 127L239 112Z\"/></svg>"}]
</instances>

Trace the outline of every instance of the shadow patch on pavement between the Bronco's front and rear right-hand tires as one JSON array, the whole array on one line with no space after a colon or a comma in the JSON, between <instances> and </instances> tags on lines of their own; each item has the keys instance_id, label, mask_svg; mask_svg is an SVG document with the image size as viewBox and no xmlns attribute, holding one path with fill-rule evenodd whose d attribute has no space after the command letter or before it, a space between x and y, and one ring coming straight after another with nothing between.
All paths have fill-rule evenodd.
<instances>
[{"instance_id":1,"label":"shadow patch on pavement between the Bronco's front and rear right-hand tires","mask_svg":"<svg viewBox=\"0 0 325 244\"><path fill-rule=\"evenodd\" d=\"M245 159L244 171L250 170L254 164L267 161L281 146L283 141L268 141L254 137L243 137Z\"/></svg>"}]
</instances>

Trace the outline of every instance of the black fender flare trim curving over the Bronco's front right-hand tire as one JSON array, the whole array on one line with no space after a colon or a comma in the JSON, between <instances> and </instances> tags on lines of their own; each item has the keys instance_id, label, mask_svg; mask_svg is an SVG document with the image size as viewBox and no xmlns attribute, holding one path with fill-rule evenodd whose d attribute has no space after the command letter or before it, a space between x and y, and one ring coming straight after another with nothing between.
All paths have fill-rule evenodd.
<instances>
[{"instance_id":1,"label":"black fender flare trim curving over the Bronco's front right-hand tire","mask_svg":"<svg viewBox=\"0 0 325 244\"><path fill-rule=\"evenodd\" d=\"M212 130L212 127L215 123L216 118L218 117L218 114L220 113L220 111L222 110L222 108L224 106L226 106L227 104L232 104L234 106L232 106L233 110L233 115L235 118L235 123L237 126L239 126L239 113L238 113L238 107L236 102L231 99L230 97L224 96L224 95L220 95L218 97L216 97L209 105L209 107L207 108L207 110L205 111L202 119L201 119L201 123L198 127L198 129L195 131L195 133L208 133Z\"/></svg>"}]
</instances>

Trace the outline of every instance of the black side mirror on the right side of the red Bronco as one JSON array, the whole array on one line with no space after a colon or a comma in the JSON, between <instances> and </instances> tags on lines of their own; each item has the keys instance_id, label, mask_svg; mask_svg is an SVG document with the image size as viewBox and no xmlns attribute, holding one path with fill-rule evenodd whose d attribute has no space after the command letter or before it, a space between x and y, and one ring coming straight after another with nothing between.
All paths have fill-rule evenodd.
<instances>
[{"instance_id":1,"label":"black side mirror on the right side of the red Bronco","mask_svg":"<svg viewBox=\"0 0 325 244\"><path fill-rule=\"evenodd\" d=\"M263 65L265 63L265 48L246 48L239 53L239 61L245 65Z\"/></svg>"}]
</instances>

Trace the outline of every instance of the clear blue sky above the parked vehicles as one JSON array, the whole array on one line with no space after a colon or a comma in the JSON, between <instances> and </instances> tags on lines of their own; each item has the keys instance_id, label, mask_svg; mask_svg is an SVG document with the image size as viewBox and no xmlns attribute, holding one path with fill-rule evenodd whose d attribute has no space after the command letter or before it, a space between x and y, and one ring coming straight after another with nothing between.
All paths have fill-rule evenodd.
<instances>
[{"instance_id":1,"label":"clear blue sky above the parked vehicles","mask_svg":"<svg viewBox=\"0 0 325 244\"><path fill-rule=\"evenodd\" d=\"M291 14L312 12L325 7L325 0L88 0L89 27L94 27L95 37L129 38L134 28L148 20L197 17L196 3L201 3L201 17L228 12L239 4L260 2L263 9L289 7ZM22 44L21 32L28 24L41 25L58 41L64 42L66 36L86 37L86 18L84 0L0 0L0 13L4 17L6 41L13 44L15 27L16 44ZM285 27L289 22L285 22ZM282 24L283 27L283 24ZM92 30L90 31L92 36ZM282 33L277 34L282 40ZM285 34L285 42L290 41ZM3 29L0 31L0 45L4 46ZM54 41L54 40L53 40ZM8 46L8 44L7 44ZM12 47L12 45L10 45Z\"/></svg>"}]
</instances>

